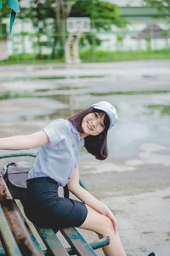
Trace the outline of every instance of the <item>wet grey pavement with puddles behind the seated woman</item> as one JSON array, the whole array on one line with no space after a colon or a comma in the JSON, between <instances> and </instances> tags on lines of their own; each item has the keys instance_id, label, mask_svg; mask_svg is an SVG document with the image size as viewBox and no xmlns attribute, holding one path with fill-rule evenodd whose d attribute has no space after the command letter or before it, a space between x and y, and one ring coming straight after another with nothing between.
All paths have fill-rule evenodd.
<instances>
[{"instance_id":1,"label":"wet grey pavement with puddles behind the seated woman","mask_svg":"<svg viewBox=\"0 0 170 256\"><path fill-rule=\"evenodd\" d=\"M110 156L94 160L82 150L82 179L115 212L128 255L167 256L170 61L0 66L2 137L38 131L103 100L118 112Z\"/></svg>"}]
</instances>

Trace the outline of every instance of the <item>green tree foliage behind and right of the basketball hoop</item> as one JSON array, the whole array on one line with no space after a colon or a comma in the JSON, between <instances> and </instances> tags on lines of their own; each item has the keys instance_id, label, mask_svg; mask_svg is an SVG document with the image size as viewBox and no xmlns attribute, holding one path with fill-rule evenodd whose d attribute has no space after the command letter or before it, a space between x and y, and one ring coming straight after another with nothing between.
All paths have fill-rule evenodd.
<instances>
[{"instance_id":1,"label":"green tree foliage behind and right of the basketball hoop","mask_svg":"<svg viewBox=\"0 0 170 256\"><path fill-rule=\"evenodd\" d=\"M117 5L102 0L77 0L71 9L71 17L89 17L92 31L82 39L88 44L101 44L97 32L109 32L111 26L126 26L127 20L120 17ZM83 42L82 42L83 44Z\"/></svg>"}]
</instances>

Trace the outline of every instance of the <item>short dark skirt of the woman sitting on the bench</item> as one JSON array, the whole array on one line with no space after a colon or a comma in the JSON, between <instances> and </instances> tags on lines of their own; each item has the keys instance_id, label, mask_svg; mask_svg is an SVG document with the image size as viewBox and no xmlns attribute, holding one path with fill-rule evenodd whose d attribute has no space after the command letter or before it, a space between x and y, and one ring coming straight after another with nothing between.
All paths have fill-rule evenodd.
<instances>
[{"instance_id":1,"label":"short dark skirt of the woman sitting on the bench","mask_svg":"<svg viewBox=\"0 0 170 256\"><path fill-rule=\"evenodd\" d=\"M38 227L60 228L79 227L87 217L84 203L70 198L59 197L59 184L50 177L35 177L27 181L24 210L26 217Z\"/></svg>"}]
</instances>

